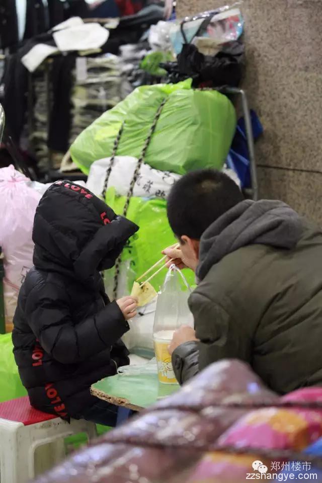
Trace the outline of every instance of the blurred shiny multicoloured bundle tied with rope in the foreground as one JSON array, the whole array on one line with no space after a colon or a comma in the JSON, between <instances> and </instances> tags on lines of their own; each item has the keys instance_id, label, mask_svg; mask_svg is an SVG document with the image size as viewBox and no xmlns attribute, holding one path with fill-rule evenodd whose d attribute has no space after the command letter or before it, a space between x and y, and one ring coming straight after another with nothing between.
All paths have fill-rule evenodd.
<instances>
[{"instance_id":1,"label":"blurred shiny multicoloured bundle tied with rope in the foreground","mask_svg":"<svg viewBox=\"0 0 322 483\"><path fill-rule=\"evenodd\" d=\"M322 390L283 397L220 361L37 483L242 483L322 478Z\"/></svg>"}]
</instances>

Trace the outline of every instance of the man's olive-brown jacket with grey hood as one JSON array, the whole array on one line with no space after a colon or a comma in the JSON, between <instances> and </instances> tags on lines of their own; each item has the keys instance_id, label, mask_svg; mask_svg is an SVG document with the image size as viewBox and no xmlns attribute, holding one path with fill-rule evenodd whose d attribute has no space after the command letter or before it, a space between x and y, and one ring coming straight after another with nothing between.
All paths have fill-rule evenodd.
<instances>
[{"instance_id":1,"label":"man's olive-brown jacket with grey hood","mask_svg":"<svg viewBox=\"0 0 322 483\"><path fill-rule=\"evenodd\" d=\"M174 351L179 382L237 358L279 393L322 385L321 231L280 201L246 200L207 228L199 258L200 342Z\"/></svg>"}]
</instances>

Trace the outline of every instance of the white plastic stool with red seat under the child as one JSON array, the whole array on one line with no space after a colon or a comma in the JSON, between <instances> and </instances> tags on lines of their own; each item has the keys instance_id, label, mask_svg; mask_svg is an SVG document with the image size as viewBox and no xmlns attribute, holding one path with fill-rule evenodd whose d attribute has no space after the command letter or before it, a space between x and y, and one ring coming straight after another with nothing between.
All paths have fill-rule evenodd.
<instances>
[{"instance_id":1,"label":"white plastic stool with red seat under the child","mask_svg":"<svg viewBox=\"0 0 322 483\"><path fill-rule=\"evenodd\" d=\"M29 398L20 397L0 404L0 481L25 483L35 477L35 450L72 434L86 433L95 438L96 425L85 420L70 424L56 416L37 411ZM51 451L52 464L63 456Z\"/></svg>"}]
</instances>

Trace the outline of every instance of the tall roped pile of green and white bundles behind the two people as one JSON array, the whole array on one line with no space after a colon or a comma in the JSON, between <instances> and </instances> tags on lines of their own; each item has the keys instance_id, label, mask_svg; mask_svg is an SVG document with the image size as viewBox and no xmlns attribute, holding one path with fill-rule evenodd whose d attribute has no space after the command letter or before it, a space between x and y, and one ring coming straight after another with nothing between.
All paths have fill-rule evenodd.
<instances>
[{"instance_id":1,"label":"tall roped pile of green and white bundles behind the two people","mask_svg":"<svg viewBox=\"0 0 322 483\"><path fill-rule=\"evenodd\" d=\"M217 16L224 33L220 38L216 35L211 38L209 32L218 32ZM208 15L208 20L211 19L213 29L201 31L194 22L192 26L188 23L187 35L200 41L195 34L201 32L200 37L208 40L217 53L222 51L222 44L227 49L236 42L243 51L238 40L243 30L240 11L219 9L215 15ZM197 23L200 27L201 22ZM180 54L183 40L179 45L179 27L180 22L160 22L150 29L154 51L145 57L145 64L156 51L165 53L171 48ZM220 56L216 55L218 60ZM242 57L240 50L239 57ZM226 73L225 84L235 86L241 77L240 58L231 55L227 59L216 64L216 72L219 75L229 65L231 74ZM175 63L168 62L165 67L173 69ZM232 64L235 69L231 69ZM216 79L213 72L211 76ZM110 297L129 293L133 282L157 260L158 254L174 244L166 199L171 186L182 175L196 169L216 168L225 170L239 186L245 186L245 177L238 177L240 171L226 166L236 133L236 111L231 100L216 89L201 89L201 78L189 77L186 73L175 84L138 87L85 129L69 149L73 163L88 174L88 188L103 197L116 213L140 226L115 269L105 274ZM161 272L153 279L156 290L164 277ZM194 284L191 274L187 278ZM140 309L139 320L130 324L126 343L138 355L153 355L154 311L155 300Z\"/></svg>"}]
</instances>

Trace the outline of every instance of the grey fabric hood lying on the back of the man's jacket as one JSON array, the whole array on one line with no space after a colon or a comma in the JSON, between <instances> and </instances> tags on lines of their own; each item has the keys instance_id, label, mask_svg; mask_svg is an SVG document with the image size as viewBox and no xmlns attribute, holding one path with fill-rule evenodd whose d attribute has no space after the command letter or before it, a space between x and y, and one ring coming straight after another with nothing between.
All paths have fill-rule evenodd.
<instances>
[{"instance_id":1,"label":"grey fabric hood lying on the back of the man's jacket","mask_svg":"<svg viewBox=\"0 0 322 483\"><path fill-rule=\"evenodd\" d=\"M202 280L225 255L247 245L291 250L302 229L299 215L281 201L241 201L202 234L197 276Z\"/></svg>"}]
</instances>

